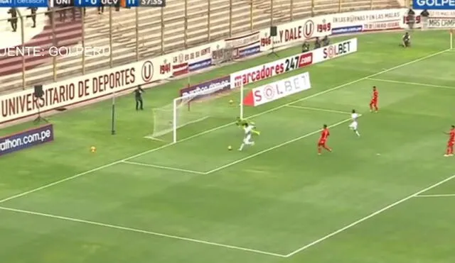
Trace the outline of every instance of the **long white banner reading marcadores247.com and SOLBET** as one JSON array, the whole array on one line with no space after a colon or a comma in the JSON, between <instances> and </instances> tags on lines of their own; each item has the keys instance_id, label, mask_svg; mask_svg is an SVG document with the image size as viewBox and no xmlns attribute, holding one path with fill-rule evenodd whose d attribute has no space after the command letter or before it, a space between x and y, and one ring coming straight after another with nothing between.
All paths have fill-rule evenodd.
<instances>
[{"instance_id":1,"label":"long white banner reading marcadores247.com and SOLBET","mask_svg":"<svg viewBox=\"0 0 455 263\"><path fill-rule=\"evenodd\" d=\"M291 57L285 57L274 62L269 62L249 69L243 69L230 74L231 89L263 79L283 74L301 67L307 67L319 62L331 60L336 57L357 52L357 38L352 38L327 47L311 50Z\"/></svg>"}]
</instances>

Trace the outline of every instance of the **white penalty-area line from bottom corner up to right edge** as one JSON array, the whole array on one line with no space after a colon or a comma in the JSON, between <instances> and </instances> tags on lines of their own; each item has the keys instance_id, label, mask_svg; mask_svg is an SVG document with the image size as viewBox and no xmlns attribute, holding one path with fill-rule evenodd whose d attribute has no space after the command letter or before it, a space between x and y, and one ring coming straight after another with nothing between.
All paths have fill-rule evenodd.
<instances>
[{"instance_id":1,"label":"white penalty-area line from bottom corner up to right edge","mask_svg":"<svg viewBox=\"0 0 455 263\"><path fill-rule=\"evenodd\" d=\"M439 182L437 182L436 184L433 184L432 186L428 186L427 188L422 189L422 190L418 191L418 192L415 193L415 194L412 194L412 195L410 195L410 196L407 196L407 197L405 197L405 198L402 198L401 200L396 201L395 203L392 203L392 204L390 204L390 205L388 205L388 206L385 206L385 208L382 208L382 209L380 209L380 210L378 210L378 211L375 211L374 213L371 213L370 215L365 216L364 218L360 218L359 220L355 221L354 223L350 223L349 225L346 225L344 228L340 228L339 230L336 230L335 232L332 232L332 233L330 233L330 234L328 234L328 235L325 235L325 236L319 238L319 240L315 240L314 242L311 242L311 243L309 243L308 245L304 245L303 247L300 247L299 249L294 250L293 252L287 254L286 257L292 257L292 256L294 256L294 254L297 254L297 253L299 253L299 252L302 252L302 251L308 249L309 247L313 247L314 245L317 245L317 244L319 244L319 243L321 243L321 242L323 242L323 241L325 241L325 240L328 240L330 237L333 237L334 235L338 235L339 233L342 233L342 232L348 230L349 228L353 228L355 225L358 225L358 224L362 223L362 222L365 221L365 220L368 220L368 219L370 219L370 218L373 218L374 216L378 216L380 213L382 213L382 212L384 212L384 211L387 211L387 210L389 210L390 208L394 208L395 206L398 206L400 203L403 203L403 202L405 202L405 201L410 200L411 198L414 198L414 197L416 197L416 196L419 196L419 194L422 194L422 193L424 193L424 192L426 192L426 191L429 191L430 189L434 189L434 187L437 187L437 186L439 186L439 185L441 185L441 184L444 184L444 183L446 183L447 181L450 181L451 179L454 179L454 178L455 178L455 175L452 175L451 177L446 178L446 179L444 179L444 180L442 180L442 181L439 181Z\"/></svg>"}]
</instances>

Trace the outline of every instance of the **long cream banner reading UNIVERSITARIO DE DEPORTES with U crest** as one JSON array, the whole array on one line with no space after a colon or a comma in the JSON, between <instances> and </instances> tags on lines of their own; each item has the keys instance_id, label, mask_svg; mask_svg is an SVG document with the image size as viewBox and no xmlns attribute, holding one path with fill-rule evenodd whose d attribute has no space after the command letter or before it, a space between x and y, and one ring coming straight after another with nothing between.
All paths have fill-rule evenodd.
<instances>
[{"instance_id":1,"label":"long cream banner reading UNIVERSITARIO DE DEPORTES with U crest","mask_svg":"<svg viewBox=\"0 0 455 263\"><path fill-rule=\"evenodd\" d=\"M167 79L172 72L170 63L162 63L165 60L172 58L165 55L44 85L41 99L36 99L34 89L0 96L0 123L33 116L38 108L43 113Z\"/></svg>"}]
</instances>

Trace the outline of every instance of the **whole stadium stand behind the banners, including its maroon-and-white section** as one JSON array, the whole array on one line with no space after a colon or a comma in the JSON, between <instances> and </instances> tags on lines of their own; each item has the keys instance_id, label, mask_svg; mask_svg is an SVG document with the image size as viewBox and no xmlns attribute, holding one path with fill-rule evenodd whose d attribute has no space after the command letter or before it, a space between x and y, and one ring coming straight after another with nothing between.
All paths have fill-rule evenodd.
<instances>
[{"instance_id":1,"label":"whole stadium stand behind the banners, including its maroon-and-white section","mask_svg":"<svg viewBox=\"0 0 455 263\"><path fill-rule=\"evenodd\" d=\"M74 77L153 57L163 53L207 43L230 36L249 33L299 18L322 13L397 7L395 0L168 0L161 8L106 8L102 15L97 9L68 8L55 11L53 16L38 10L37 27L31 28L29 11L20 10L18 32L11 32L6 10L0 11L0 48L41 46L102 47L110 50L106 56L67 55L65 57L0 57L0 93ZM273 13L273 16L271 16ZM65 16L63 16L65 14ZM251 19L252 18L252 19ZM53 23L51 22L53 21ZM22 29L23 28L23 29ZM185 30L187 28L187 30ZM23 30L23 33L19 32ZM22 39L23 38L23 39ZM65 52L66 50L60 50ZM25 63L23 63L25 62ZM23 72L25 67L25 72Z\"/></svg>"}]
</instances>

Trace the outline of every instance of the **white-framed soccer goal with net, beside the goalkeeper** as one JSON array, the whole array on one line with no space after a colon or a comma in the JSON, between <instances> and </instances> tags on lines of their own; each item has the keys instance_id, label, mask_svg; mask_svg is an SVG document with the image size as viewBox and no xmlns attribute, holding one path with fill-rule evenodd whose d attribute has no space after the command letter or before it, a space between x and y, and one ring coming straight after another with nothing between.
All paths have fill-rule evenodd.
<instances>
[{"instance_id":1,"label":"white-framed soccer goal with net, beside the goalkeeper","mask_svg":"<svg viewBox=\"0 0 455 263\"><path fill-rule=\"evenodd\" d=\"M240 91L240 101L243 101L243 86L236 90ZM237 116L243 118L243 103L228 97L228 94L230 89L214 86L180 96L161 108L154 108L153 133L146 138L177 142L183 127L186 128L185 133L193 132L194 135L203 131L198 130L200 127L210 129L220 123L235 121Z\"/></svg>"}]
</instances>

